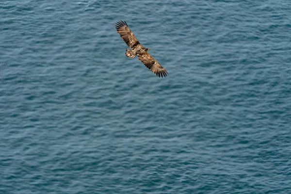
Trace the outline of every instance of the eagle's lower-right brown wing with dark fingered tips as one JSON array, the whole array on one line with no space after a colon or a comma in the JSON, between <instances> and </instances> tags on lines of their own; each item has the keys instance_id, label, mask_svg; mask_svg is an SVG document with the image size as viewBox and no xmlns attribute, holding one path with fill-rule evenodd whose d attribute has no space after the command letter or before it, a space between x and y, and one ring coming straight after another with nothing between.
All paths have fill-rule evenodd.
<instances>
[{"instance_id":1,"label":"eagle's lower-right brown wing with dark fingered tips","mask_svg":"<svg viewBox=\"0 0 291 194\"><path fill-rule=\"evenodd\" d=\"M146 65L149 70L155 73L157 76L166 77L168 72L157 60L155 60L147 51L138 55L138 59Z\"/></svg>"}]
</instances>

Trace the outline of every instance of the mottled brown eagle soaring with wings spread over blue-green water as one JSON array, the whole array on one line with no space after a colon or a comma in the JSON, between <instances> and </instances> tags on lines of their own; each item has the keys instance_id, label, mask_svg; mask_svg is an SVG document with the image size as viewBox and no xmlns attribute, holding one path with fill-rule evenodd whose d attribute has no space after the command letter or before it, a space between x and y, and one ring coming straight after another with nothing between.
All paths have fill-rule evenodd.
<instances>
[{"instance_id":1,"label":"mottled brown eagle soaring with wings spread over blue-green water","mask_svg":"<svg viewBox=\"0 0 291 194\"><path fill-rule=\"evenodd\" d=\"M167 76L167 70L147 52L148 48L141 45L125 21L120 20L116 22L115 28L130 48L126 49L125 55L127 57L134 58L137 55L137 58L157 76Z\"/></svg>"}]
</instances>

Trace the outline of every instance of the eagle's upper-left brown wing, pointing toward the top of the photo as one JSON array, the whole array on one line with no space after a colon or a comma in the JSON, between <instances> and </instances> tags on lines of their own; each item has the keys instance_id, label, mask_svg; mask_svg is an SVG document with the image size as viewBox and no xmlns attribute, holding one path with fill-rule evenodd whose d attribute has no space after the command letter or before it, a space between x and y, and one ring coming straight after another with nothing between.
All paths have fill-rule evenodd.
<instances>
[{"instance_id":1,"label":"eagle's upper-left brown wing, pointing toward the top of the photo","mask_svg":"<svg viewBox=\"0 0 291 194\"><path fill-rule=\"evenodd\" d=\"M134 45L140 44L125 21L118 21L115 25L115 28L120 34L120 37L131 49Z\"/></svg>"}]
</instances>

